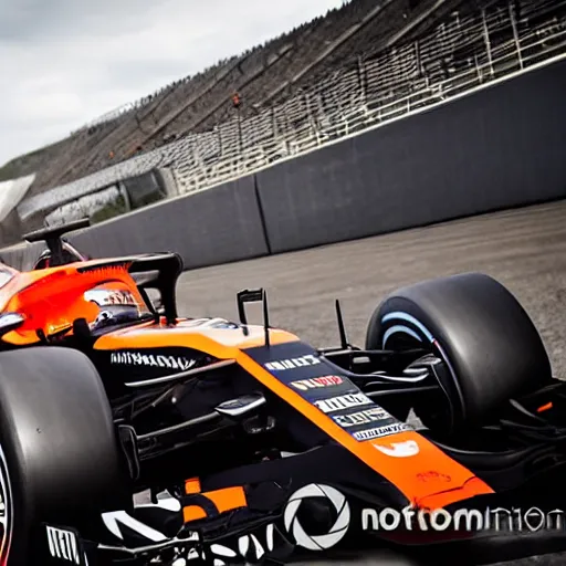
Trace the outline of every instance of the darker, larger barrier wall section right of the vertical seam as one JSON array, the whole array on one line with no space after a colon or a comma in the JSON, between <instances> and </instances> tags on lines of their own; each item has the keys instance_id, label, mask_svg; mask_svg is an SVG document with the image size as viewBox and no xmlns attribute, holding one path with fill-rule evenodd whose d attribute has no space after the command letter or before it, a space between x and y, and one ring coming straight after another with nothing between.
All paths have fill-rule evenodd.
<instances>
[{"instance_id":1,"label":"darker, larger barrier wall section right of the vertical seam","mask_svg":"<svg viewBox=\"0 0 566 566\"><path fill-rule=\"evenodd\" d=\"M566 197L566 62L258 175L273 252Z\"/></svg>"}]
</instances>

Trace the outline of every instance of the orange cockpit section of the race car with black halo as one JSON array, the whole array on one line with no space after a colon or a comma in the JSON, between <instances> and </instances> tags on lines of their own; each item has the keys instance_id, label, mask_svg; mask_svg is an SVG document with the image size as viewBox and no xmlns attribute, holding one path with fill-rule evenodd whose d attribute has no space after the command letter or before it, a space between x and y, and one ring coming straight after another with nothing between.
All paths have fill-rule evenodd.
<instances>
[{"instance_id":1,"label":"orange cockpit section of the race car with black halo","mask_svg":"<svg viewBox=\"0 0 566 566\"><path fill-rule=\"evenodd\" d=\"M0 264L4 314L21 319L12 344L93 336L106 328L144 321L177 319L175 285L182 272L176 253L149 253L91 260L66 241L65 232L87 227L88 220L48 227L24 238L46 242L29 271ZM3 277L3 279L2 279ZM11 280L13 279L13 284Z\"/></svg>"}]
</instances>

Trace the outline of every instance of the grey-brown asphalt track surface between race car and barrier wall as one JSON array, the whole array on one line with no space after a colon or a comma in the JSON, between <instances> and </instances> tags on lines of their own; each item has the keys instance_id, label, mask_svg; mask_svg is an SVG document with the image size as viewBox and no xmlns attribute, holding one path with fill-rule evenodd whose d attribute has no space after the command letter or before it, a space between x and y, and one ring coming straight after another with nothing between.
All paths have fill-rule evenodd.
<instances>
[{"instance_id":1,"label":"grey-brown asphalt track surface between race car and barrier wall","mask_svg":"<svg viewBox=\"0 0 566 566\"><path fill-rule=\"evenodd\" d=\"M334 300L340 298L350 343L363 346L367 321L389 292L469 271L492 275L515 294L543 336L555 375L566 378L566 201L186 272L179 312L235 319L235 293L263 286L272 325L329 346L338 343ZM260 308L250 312L252 322L261 321ZM564 563L566 554L513 562ZM384 563L342 556L332 564Z\"/></svg>"}]
</instances>

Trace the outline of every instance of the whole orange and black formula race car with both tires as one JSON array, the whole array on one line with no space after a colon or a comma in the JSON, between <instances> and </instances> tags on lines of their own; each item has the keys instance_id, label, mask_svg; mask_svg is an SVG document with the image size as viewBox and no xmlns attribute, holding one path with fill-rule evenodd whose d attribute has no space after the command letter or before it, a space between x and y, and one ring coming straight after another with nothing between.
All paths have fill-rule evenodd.
<instances>
[{"instance_id":1,"label":"whole orange and black formula race car with both tires","mask_svg":"<svg viewBox=\"0 0 566 566\"><path fill-rule=\"evenodd\" d=\"M262 290L239 323L180 318L177 254L85 260L61 239L84 226L29 234L38 269L0 266L0 564L566 547L566 389L500 283L402 289L364 349L336 303L340 345L316 349L271 327Z\"/></svg>"}]
</instances>

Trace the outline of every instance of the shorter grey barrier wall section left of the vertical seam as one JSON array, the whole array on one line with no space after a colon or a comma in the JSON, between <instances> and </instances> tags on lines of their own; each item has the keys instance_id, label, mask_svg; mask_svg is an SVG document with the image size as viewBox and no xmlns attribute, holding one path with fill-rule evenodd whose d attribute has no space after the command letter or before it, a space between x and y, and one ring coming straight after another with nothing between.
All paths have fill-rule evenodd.
<instances>
[{"instance_id":1,"label":"shorter grey barrier wall section left of the vertical seam","mask_svg":"<svg viewBox=\"0 0 566 566\"><path fill-rule=\"evenodd\" d=\"M268 253L253 176L140 209L69 239L93 256L175 251L188 269Z\"/></svg>"}]
</instances>

